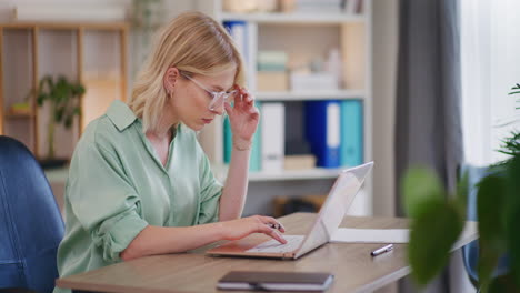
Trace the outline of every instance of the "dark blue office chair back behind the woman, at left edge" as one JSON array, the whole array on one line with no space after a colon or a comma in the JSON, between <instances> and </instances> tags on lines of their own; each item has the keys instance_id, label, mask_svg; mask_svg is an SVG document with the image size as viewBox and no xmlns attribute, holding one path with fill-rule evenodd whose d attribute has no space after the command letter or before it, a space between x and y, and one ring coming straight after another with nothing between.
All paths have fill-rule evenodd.
<instances>
[{"instance_id":1,"label":"dark blue office chair back behind the woman, at left edge","mask_svg":"<svg viewBox=\"0 0 520 293\"><path fill-rule=\"evenodd\" d=\"M63 230L34 156L19 141L0 135L0 292L52 292Z\"/></svg>"}]
</instances>

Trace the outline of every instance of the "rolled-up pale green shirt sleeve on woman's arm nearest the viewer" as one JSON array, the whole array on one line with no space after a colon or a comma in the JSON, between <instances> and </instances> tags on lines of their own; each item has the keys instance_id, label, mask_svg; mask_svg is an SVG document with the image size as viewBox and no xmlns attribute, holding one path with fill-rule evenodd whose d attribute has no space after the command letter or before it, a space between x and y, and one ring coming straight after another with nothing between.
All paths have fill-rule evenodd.
<instances>
[{"instance_id":1,"label":"rolled-up pale green shirt sleeve on woman's arm nearest the viewer","mask_svg":"<svg viewBox=\"0 0 520 293\"><path fill-rule=\"evenodd\" d=\"M140 216L140 198L128 180L117 154L88 144L71 164L68 189L74 215L104 261L119 254L148 225Z\"/></svg>"}]
</instances>

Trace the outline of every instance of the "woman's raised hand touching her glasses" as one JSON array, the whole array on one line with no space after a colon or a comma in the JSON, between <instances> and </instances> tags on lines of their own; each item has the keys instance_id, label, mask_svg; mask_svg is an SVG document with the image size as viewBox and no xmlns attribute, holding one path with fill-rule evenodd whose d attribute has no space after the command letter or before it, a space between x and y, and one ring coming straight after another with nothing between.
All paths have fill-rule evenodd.
<instances>
[{"instance_id":1,"label":"woman's raised hand touching her glasses","mask_svg":"<svg viewBox=\"0 0 520 293\"><path fill-rule=\"evenodd\" d=\"M244 88L234 85L234 90L237 91L234 105L231 107L228 102L224 104L231 131L233 132L233 140L251 142L260 121L260 113L254 107L253 97Z\"/></svg>"}]
</instances>

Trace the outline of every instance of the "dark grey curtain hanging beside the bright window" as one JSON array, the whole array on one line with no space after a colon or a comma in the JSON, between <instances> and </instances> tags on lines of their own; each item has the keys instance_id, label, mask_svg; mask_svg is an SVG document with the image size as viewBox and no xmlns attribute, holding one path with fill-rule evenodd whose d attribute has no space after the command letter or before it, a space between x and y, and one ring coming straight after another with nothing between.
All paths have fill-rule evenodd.
<instances>
[{"instance_id":1,"label":"dark grey curtain hanging beside the bright window","mask_svg":"<svg viewBox=\"0 0 520 293\"><path fill-rule=\"evenodd\" d=\"M462 160L457 0L401 0L396 113L397 214L401 176L411 165L437 172L449 190ZM410 281L402 292L414 292ZM448 274L424 292L449 292Z\"/></svg>"}]
</instances>

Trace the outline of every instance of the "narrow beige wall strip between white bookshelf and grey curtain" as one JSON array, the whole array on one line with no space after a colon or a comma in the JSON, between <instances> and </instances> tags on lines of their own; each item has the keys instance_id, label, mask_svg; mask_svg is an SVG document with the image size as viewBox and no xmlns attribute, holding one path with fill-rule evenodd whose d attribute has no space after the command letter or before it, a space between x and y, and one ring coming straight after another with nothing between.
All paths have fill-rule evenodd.
<instances>
[{"instance_id":1,"label":"narrow beige wall strip between white bookshelf and grey curtain","mask_svg":"<svg viewBox=\"0 0 520 293\"><path fill-rule=\"evenodd\" d=\"M394 113L399 0L373 0L373 214L394 215Z\"/></svg>"}]
</instances>

